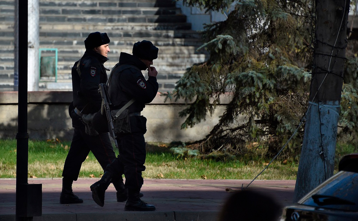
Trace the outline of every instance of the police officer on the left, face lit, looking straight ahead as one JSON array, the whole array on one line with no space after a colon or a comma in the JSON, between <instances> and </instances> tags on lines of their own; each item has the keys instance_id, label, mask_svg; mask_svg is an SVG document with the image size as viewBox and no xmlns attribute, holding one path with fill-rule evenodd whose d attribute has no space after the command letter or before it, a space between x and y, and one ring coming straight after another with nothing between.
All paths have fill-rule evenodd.
<instances>
[{"instance_id":1,"label":"police officer on the left, face lit, looking straight ahead","mask_svg":"<svg viewBox=\"0 0 358 221\"><path fill-rule=\"evenodd\" d=\"M110 39L106 33L94 32L84 40L86 52L72 67L73 104L69 107L74 134L62 172L61 204L82 203L72 192L72 183L76 181L81 165L92 151L103 170L116 159L108 133L89 135L82 122L83 114L92 114L100 110L102 98L98 94L98 84L107 81L106 68ZM112 179L117 190L117 201L127 200L128 192L124 188L121 176Z\"/></svg>"}]
</instances>

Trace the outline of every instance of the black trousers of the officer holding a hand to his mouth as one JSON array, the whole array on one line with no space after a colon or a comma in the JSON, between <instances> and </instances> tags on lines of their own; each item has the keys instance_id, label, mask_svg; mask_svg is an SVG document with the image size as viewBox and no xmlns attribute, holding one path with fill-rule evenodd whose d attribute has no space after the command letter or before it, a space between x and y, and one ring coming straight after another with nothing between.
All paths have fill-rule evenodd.
<instances>
[{"instance_id":1,"label":"black trousers of the officer holding a hand to his mouth","mask_svg":"<svg viewBox=\"0 0 358 221\"><path fill-rule=\"evenodd\" d=\"M112 174L124 174L125 187L140 189L143 185L142 171L145 170L145 140L143 132L118 135L119 154L106 170Z\"/></svg>"}]
</instances>

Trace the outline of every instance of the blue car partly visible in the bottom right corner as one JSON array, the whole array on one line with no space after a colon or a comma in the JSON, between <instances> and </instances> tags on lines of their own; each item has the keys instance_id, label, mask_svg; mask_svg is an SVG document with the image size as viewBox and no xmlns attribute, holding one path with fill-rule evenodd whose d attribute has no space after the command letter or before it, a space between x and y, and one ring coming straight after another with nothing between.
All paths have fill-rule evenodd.
<instances>
[{"instance_id":1,"label":"blue car partly visible in the bottom right corner","mask_svg":"<svg viewBox=\"0 0 358 221\"><path fill-rule=\"evenodd\" d=\"M292 206L281 221L358 221L358 154L344 156L339 172Z\"/></svg>"}]
</instances>

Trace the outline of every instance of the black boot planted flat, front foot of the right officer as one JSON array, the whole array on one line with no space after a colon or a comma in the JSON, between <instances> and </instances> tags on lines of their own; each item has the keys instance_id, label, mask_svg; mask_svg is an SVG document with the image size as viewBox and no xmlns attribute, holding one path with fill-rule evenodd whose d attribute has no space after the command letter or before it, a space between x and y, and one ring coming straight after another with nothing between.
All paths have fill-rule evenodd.
<instances>
[{"instance_id":1,"label":"black boot planted flat, front foot of the right officer","mask_svg":"<svg viewBox=\"0 0 358 221\"><path fill-rule=\"evenodd\" d=\"M140 189L128 189L128 200L125 211L154 211L155 206L143 202L140 197Z\"/></svg>"}]
</instances>

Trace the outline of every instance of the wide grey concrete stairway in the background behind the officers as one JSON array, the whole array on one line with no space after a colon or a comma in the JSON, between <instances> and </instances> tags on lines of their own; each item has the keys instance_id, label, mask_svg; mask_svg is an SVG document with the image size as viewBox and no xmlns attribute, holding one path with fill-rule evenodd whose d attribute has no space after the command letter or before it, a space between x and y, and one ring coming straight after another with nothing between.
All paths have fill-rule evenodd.
<instances>
[{"instance_id":1,"label":"wide grey concrete stairway in the background behind the officers","mask_svg":"<svg viewBox=\"0 0 358 221\"><path fill-rule=\"evenodd\" d=\"M94 31L111 39L105 63L111 69L120 52L131 53L143 39L159 47L154 65L160 91L171 91L186 68L205 61L196 51L200 34L171 0L40 0L40 48L58 50L57 77L40 78L40 90L72 90L71 68L84 53L84 39ZM53 56L42 51L42 57ZM0 90L13 89L14 0L0 1ZM145 71L143 72L146 73ZM108 72L109 74L109 72Z\"/></svg>"}]
</instances>

